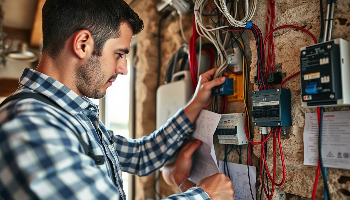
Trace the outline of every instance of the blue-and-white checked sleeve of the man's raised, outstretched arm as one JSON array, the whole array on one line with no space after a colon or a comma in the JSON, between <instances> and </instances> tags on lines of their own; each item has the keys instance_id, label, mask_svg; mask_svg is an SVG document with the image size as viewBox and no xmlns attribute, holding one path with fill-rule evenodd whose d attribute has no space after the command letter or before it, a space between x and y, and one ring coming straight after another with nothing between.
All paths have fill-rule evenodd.
<instances>
[{"instance_id":1,"label":"blue-and-white checked sleeve of the man's raised, outstretched arm","mask_svg":"<svg viewBox=\"0 0 350 200\"><path fill-rule=\"evenodd\" d=\"M193 124L180 109L159 130L140 139L113 136L121 170L146 176L169 160L193 132Z\"/></svg>"}]
</instances>

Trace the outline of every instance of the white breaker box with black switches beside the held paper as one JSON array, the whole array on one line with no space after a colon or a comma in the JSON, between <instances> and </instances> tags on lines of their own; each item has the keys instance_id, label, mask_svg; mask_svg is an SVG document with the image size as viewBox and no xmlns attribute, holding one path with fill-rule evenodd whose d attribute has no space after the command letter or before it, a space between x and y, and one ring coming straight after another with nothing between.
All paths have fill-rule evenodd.
<instances>
[{"instance_id":1,"label":"white breaker box with black switches beside the held paper","mask_svg":"<svg viewBox=\"0 0 350 200\"><path fill-rule=\"evenodd\" d=\"M248 144L244 128L245 113L223 114L214 134L220 144Z\"/></svg>"}]
</instances>

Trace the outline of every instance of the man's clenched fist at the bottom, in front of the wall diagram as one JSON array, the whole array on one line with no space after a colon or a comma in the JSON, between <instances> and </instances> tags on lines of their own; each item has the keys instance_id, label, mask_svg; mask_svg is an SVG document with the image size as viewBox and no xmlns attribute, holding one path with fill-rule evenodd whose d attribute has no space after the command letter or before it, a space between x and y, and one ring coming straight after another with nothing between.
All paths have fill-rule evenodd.
<instances>
[{"instance_id":1,"label":"man's clenched fist at the bottom, in front of the wall diagram","mask_svg":"<svg viewBox=\"0 0 350 200\"><path fill-rule=\"evenodd\" d=\"M217 173L202 179L197 187L202 188L212 200L234 200L235 186L229 177L223 173Z\"/></svg>"}]
</instances>

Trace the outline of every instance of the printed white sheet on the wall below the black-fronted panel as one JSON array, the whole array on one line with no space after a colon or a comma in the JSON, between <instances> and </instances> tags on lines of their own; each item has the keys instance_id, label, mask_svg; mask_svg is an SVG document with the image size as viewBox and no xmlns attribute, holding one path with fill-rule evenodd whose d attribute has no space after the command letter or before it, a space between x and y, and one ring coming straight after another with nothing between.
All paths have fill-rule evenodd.
<instances>
[{"instance_id":1,"label":"printed white sheet on the wall below the black-fronted panel","mask_svg":"<svg viewBox=\"0 0 350 200\"><path fill-rule=\"evenodd\" d=\"M305 113L304 165L318 163L317 113ZM324 112L322 160L325 167L350 170L350 111Z\"/></svg>"}]
</instances>

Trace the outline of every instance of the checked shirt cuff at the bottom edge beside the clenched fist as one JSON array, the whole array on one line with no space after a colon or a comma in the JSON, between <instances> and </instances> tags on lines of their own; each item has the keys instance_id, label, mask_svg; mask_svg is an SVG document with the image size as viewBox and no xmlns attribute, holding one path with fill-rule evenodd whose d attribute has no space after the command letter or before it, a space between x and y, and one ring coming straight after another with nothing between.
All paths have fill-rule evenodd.
<instances>
[{"instance_id":1,"label":"checked shirt cuff at the bottom edge beside the clenched fist","mask_svg":"<svg viewBox=\"0 0 350 200\"><path fill-rule=\"evenodd\" d=\"M209 195L199 187L191 187L181 194L173 194L163 200L210 200Z\"/></svg>"}]
</instances>

